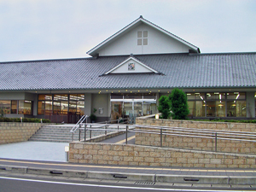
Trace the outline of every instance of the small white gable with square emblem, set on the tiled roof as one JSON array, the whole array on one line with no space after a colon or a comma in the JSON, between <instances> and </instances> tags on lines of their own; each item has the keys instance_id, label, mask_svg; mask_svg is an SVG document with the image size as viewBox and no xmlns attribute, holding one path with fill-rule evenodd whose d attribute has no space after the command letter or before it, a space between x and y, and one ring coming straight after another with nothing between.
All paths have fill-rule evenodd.
<instances>
[{"instance_id":1,"label":"small white gable with square emblem, set on the tiled roof","mask_svg":"<svg viewBox=\"0 0 256 192\"><path fill-rule=\"evenodd\" d=\"M131 69L128 69L128 66L125 66L125 64L131 64L132 67ZM138 70L135 65L138 64L140 69ZM123 69L120 69L121 67L123 67ZM120 70L118 70L120 69ZM121 62L119 65L117 65L116 67L113 67L111 70L109 70L107 73L105 73L105 75L109 74L109 73L159 73L157 71L155 71L153 68L148 67L147 65L145 65L142 61L138 61L136 58L134 58L133 56L130 56L128 59L126 59L125 61Z\"/></svg>"}]
</instances>

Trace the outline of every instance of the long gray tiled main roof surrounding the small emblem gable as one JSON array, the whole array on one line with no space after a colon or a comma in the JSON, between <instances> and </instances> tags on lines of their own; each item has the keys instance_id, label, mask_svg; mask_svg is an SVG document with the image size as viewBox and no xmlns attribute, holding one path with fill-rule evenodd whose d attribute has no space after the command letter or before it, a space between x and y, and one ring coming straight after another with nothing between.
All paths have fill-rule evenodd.
<instances>
[{"instance_id":1,"label":"long gray tiled main roof surrounding the small emblem gable","mask_svg":"<svg viewBox=\"0 0 256 192\"><path fill-rule=\"evenodd\" d=\"M0 90L256 87L256 53L135 55L162 74L108 74L128 56L0 62Z\"/></svg>"}]
</instances>

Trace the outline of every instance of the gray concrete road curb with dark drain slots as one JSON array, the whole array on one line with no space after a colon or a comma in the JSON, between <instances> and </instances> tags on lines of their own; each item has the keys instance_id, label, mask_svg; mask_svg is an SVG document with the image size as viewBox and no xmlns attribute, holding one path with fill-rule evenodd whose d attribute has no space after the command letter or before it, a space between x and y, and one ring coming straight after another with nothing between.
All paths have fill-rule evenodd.
<instances>
[{"instance_id":1,"label":"gray concrete road curb with dark drain slots","mask_svg":"<svg viewBox=\"0 0 256 192\"><path fill-rule=\"evenodd\" d=\"M2 166L0 172L18 172L44 176L81 177L107 179L117 181L143 181L159 183L211 183L211 184L255 184L256 177L237 176L195 176L195 175L163 175L123 172L73 171L67 169L35 168L28 166Z\"/></svg>"}]
</instances>

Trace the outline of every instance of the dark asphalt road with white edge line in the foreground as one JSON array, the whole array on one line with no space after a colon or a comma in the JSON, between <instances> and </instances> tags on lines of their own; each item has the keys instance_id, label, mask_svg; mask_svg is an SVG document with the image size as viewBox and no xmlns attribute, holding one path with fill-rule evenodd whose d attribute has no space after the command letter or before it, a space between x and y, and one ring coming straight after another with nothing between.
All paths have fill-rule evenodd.
<instances>
[{"instance_id":1,"label":"dark asphalt road with white edge line in the foreground","mask_svg":"<svg viewBox=\"0 0 256 192\"><path fill-rule=\"evenodd\" d=\"M116 182L97 179L42 177L40 175L0 174L0 192L148 192L148 191L246 191L249 189L215 189L203 186L172 186L168 183Z\"/></svg>"}]
</instances>

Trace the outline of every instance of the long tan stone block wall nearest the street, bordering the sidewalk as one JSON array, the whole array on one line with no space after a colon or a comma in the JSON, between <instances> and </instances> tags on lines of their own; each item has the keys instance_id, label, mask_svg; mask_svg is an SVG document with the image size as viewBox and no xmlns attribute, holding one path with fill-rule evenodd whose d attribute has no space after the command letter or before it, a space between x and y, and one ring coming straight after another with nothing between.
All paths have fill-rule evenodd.
<instances>
[{"instance_id":1,"label":"long tan stone block wall nearest the street, bordering the sidewalk","mask_svg":"<svg viewBox=\"0 0 256 192\"><path fill-rule=\"evenodd\" d=\"M109 143L69 144L69 162L212 168L256 168L255 155L225 154L177 148L159 148Z\"/></svg>"}]
</instances>

